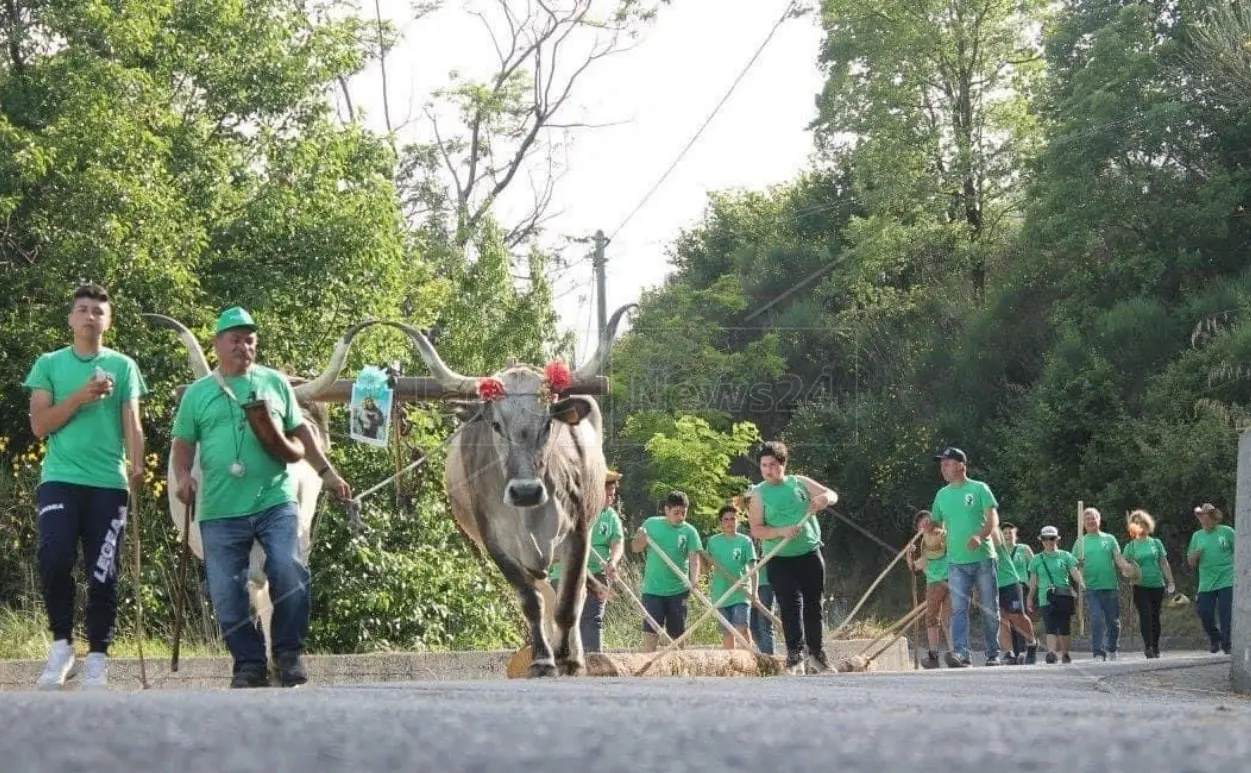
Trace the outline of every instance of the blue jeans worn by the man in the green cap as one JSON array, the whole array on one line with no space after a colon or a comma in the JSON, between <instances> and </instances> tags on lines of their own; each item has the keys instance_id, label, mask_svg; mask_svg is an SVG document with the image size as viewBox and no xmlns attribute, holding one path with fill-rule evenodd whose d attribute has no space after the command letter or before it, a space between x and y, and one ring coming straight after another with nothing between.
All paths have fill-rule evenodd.
<instances>
[{"instance_id":1,"label":"blue jeans worn by the man in the green cap","mask_svg":"<svg viewBox=\"0 0 1251 773\"><path fill-rule=\"evenodd\" d=\"M265 577L274 605L274 658L304 652L309 632L309 568L300 559L298 512L289 502L238 518L200 522L204 570L221 635L235 672L264 669L265 642L249 612L248 562L251 543L265 550Z\"/></svg>"}]
</instances>

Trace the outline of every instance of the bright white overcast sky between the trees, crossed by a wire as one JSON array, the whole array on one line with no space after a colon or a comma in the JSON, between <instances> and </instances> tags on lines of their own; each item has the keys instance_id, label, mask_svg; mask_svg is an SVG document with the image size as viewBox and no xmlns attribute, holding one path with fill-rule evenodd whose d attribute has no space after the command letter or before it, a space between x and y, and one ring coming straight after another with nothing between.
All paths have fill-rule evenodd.
<instances>
[{"instance_id":1,"label":"bright white overcast sky between the trees, crossed by a wire","mask_svg":"<svg viewBox=\"0 0 1251 773\"><path fill-rule=\"evenodd\" d=\"M806 165L812 141L806 130L821 88L816 66L821 33L811 16L786 21L664 184L626 224L631 210L709 115L751 59L788 0L673 0L633 50L592 65L570 98L567 120L613 123L578 133L564 160L553 206L562 210L548 238L589 236L597 228L608 246L608 310L637 300L661 284L671 266L667 243L697 223L708 191L762 189L792 179ZM363 8L372 11L373 4ZM413 121L400 139L428 139L420 108L448 73L488 73L495 53L482 23L465 9L489 10L488 0L445 0L443 10L412 21L410 0L382 0L382 13L402 29L388 58L392 120ZM524 0L517 0L524 8ZM497 18L498 13L497 13ZM350 84L368 124L384 129L377 64ZM525 183L518 194L525 194ZM520 198L504 203L505 209ZM577 253L570 253L577 256ZM594 313L589 263L562 278L562 323L588 333ZM583 355L579 345L578 355Z\"/></svg>"}]
</instances>

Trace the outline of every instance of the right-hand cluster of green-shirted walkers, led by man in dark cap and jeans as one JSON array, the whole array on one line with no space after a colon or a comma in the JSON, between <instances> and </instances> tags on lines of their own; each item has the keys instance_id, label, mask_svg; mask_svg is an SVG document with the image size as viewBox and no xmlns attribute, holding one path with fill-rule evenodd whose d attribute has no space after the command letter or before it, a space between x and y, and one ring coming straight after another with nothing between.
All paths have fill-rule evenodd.
<instances>
[{"instance_id":1,"label":"right-hand cluster of green-shirted walkers, led by man in dark cap and jeans","mask_svg":"<svg viewBox=\"0 0 1251 773\"><path fill-rule=\"evenodd\" d=\"M1053 525L1038 533L1035 553L1017 540L1017 527L998 523L998 502L990 487L967 477L967 455L948 448L937 457L947 479L931 510L917 515L918 544L908 563L926 577L924 668L940 665L940 635L946 632L950 668L971 664L968 607L976 588L986 634L986 664L1032 664L1040 642L1031 615L1041 617L1047 663L1071 663L1072 618L1077 594L1090 610L1091 654L1115 660L1120 649L1120 585L1130 583L1138 613L1142 652L1160 657L1161 610L1176 593L1163 543L1153 537L1156 523L1138 509L1126 519L1122 544L1102 528L1096 508L1082 513L1085 533L1071 549L1060 547ZM1186 562L1198 572L1196 610L1210 652L1230 653L1233 594L1233 529L1210 503L1195 508L1200 528L1191 535ZM993 600L991 600L993 599ZM1002 653L1002 657L1001 654Z\"/></svg>"}]
</instances>

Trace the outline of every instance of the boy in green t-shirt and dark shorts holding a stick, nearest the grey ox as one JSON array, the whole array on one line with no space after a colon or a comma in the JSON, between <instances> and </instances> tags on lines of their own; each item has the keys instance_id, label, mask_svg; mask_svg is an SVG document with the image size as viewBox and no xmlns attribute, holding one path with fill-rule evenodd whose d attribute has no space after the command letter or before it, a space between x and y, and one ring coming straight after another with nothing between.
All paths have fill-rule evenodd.
<instances>
[{"instance_id":1,"label":"boy in green t-shirt and dark shorts holding a stick, nearest the grey ox","mask_svg":"<svg viewBox=\"0 0 1251 773\"><path fill-rule=\"evenodd\" d=\"M691 588L699 584L699 550L703 549L703 543L698 529L687 523L689 505L683 492L669 492L661 503L664 515L644 520L631 542L631 549L636 553L647 552L647 562L643 564L643 607L658 625L664 625L671 639L677 639L686 632L687 598ZM657 550L663 550L678 569L689 574L689 585L669 568ZM643 652L656 652L659 635L644 618Z\"/></svg>"}]
</instances>

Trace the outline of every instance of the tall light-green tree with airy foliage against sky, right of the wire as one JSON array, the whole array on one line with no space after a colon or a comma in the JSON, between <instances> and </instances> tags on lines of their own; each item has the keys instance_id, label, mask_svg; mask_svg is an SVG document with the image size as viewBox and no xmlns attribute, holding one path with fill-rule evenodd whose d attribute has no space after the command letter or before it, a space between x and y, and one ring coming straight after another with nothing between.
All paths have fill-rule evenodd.
<instances>
[{"instance_id":1,"label":"tall light-green tree with airy foliage against sky, right of the wire","mask_svg":"<svg viewBox=\"0 0 1251 773\"><path fill-rule=\"evenodd\" d=\"M956 266L975 296L985 291L1038 139L1028 99L1042 61L1030 25L1041 8L822 3L818 146L846 158L869 210L852 239L871 283L922 285Z\"/></svg>"}]
</instances>

